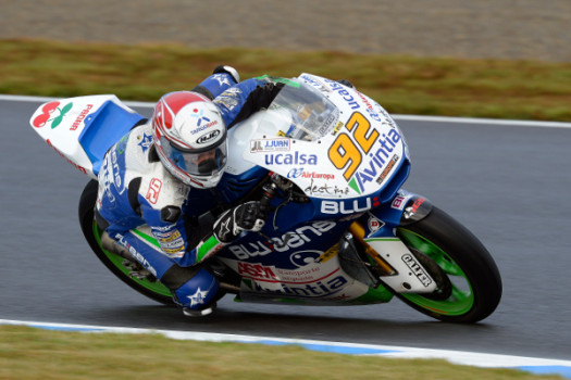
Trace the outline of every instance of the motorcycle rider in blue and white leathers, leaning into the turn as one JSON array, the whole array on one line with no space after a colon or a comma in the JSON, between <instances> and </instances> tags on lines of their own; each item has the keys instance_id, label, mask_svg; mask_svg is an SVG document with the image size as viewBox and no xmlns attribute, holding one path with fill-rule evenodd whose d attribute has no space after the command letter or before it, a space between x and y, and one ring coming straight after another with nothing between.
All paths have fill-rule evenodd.
<instances>
[{"instance_id":1,"label":"motorcycle rider in blue and white leathers, leaning into the turn","mask_svg":"<svg viewBox=\"0 0 571 380\"><path fill-rule=\"evenodd\" d=\"M151 119L105 154L95 211L105 229L102 244L136 259L138 276L160 280L185 315L208 315L215 306L219 281L200 263L243 231L260 230L264 219L260 203L248 202L197 228L185 201L189 191L219 183L227 128L268 107L282 86L268 78L240 83L233 67L219 66L193 91L163 96ZM160 246L145 240L144 225Z\"/></svg>"}]
</instances>

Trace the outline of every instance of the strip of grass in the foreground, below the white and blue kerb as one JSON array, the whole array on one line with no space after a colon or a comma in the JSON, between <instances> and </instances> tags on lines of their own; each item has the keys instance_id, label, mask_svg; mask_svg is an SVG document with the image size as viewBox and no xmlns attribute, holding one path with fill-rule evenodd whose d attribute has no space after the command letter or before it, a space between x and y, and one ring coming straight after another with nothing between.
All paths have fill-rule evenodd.
<instances>
[{"instance_id":1,"label":"strip of grass in the foreground, below the white and blue kerb","mask_svg":"<svg viewBox=\"0 0 571 380\"><path fill-rule=\"evenodd\" d=\"M299 346L178 341L159 334L80 333L0 326L2 380L532 380L512 369L307 351Z\"/></svg>"}]
</instances>

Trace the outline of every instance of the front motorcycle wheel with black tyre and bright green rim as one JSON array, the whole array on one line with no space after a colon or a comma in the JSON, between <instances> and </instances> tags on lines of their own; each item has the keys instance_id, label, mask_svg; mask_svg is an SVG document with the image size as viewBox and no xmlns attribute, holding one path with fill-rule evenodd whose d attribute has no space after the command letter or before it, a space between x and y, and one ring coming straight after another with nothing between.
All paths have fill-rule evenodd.
<instances>
[{"instance_id":1,"label":"front motorcycle wheel with black tyre and bright green rim","mask_svg":"<svg viewBox=\"0 0 571 380\"><path fill-rule=\"evenodd\" d=\"M477 322L496 309L502 292L496 263L480 240L451 216L433 207L425 218L399 227L397 236L415 254L435 262L452 287L445 300L397 294L409 306L449 322Z\"/></svg>"}]
</instances>

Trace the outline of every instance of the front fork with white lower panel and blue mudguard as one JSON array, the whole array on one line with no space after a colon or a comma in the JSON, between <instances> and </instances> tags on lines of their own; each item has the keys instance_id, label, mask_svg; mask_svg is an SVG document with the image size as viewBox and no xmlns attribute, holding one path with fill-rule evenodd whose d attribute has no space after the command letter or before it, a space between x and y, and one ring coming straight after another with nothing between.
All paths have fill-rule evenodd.
<instances>
[{"instance_id":1,"label":"front fork with white lower panel and blue mudguard","mask_svg":"<svg viewBox=\"0 0 571 380\"><path fill-rule=\"evenodd\" d=\"M349 227L364 252L380 268L380 279L397 293L431 293L436 281L415 254L396 236L396 228L424 218L432 204L400 190L392 202L367 213Z\"/></svg>"}]
</instances>

